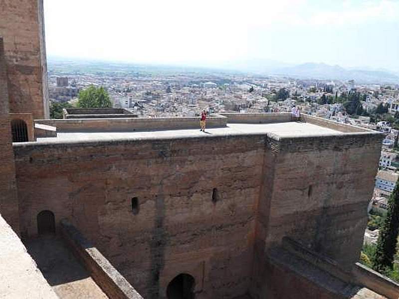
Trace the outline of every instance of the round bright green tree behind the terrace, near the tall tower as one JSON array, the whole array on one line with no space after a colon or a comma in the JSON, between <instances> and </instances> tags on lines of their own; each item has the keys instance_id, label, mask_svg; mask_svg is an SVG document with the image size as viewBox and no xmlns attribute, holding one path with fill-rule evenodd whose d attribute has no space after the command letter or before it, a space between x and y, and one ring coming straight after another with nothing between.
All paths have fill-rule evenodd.
<instances>
[{"instance_id":1,"label":"round bright green tree behind the terrace, near the tall tower","mask_svg":"<svg viewBox=\"0 0 399 299\"><path fill-rule=\"evenodd\" d=\"M79 92L79 108L111 108L112 102L108 92L104 87L95 87L93 85Z\"/></svg>"}]
</instances>

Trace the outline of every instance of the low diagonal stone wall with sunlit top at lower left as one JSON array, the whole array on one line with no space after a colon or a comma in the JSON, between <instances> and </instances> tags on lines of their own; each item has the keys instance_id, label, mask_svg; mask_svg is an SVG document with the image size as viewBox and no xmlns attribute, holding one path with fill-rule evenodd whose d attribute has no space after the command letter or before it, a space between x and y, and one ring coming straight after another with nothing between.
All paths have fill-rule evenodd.
<instances>
[{"instance_id":1,"label":"low diagonal stone wall with sunlit top at lower left","mask_svg":"<svg viewBox=\"0 0 399 299\"><path fill-rule=\"evenodd\" d=\"M61 234L90 276L112 299L143 299L111 263L67 220L61 220Z\"/></svg>"}]
</instances>

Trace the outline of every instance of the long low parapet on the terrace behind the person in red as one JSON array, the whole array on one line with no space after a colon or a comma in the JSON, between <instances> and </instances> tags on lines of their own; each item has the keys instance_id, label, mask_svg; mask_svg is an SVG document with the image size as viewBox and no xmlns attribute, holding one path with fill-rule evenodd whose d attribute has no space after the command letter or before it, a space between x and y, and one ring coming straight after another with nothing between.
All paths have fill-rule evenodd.
<instances>
[{"instance_id":1,"label":"long low parapet on the terrace behind the person in red","mask_svg":"<svg viewBox=\"0 0 399 299\"><path fill-rule=\"evenodd\" d=\"M151 130L199 129L199 117L62 119L35 120L53 126L57 132L134 132ZM206 119L206 128L226 127L227 118L215 115Z\"/></svg>"}]
</instances>

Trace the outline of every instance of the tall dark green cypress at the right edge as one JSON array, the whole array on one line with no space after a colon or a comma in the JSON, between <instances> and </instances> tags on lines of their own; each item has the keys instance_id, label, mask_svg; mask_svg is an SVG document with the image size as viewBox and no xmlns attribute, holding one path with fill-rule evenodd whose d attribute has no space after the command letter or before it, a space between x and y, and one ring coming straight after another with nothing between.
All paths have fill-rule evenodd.
<instances>
[{"instance_id":1,"label":"tall dark green cypress at the right edge","mask_svg":"<svg viewBox=\"0 0 399 299\"><path fill-rule=\"evenodd\" d=\"M394 255L399 231L399 184L395 186L388 200L388 211L384 218L377 249L373 259L373 269L386 272L393 268Z\"/></svg>"}]
</instances>

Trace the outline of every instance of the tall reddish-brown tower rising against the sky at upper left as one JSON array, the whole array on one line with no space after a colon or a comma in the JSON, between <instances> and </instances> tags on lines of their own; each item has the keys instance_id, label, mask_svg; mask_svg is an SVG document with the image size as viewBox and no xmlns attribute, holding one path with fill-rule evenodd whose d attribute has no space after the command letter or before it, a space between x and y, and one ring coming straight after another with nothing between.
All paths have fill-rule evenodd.
<instances>
[{"instance_id":1,"label":"tall reddish-brown tower rising against the sky at upper left","mask_svg":"<svg viewBox=\"0 0 399 299\"><path fill-rule=\"evenodd\" d=\"M43 0L1 0L9 111L48 118Z\"/></svg>"}]
</instances>

